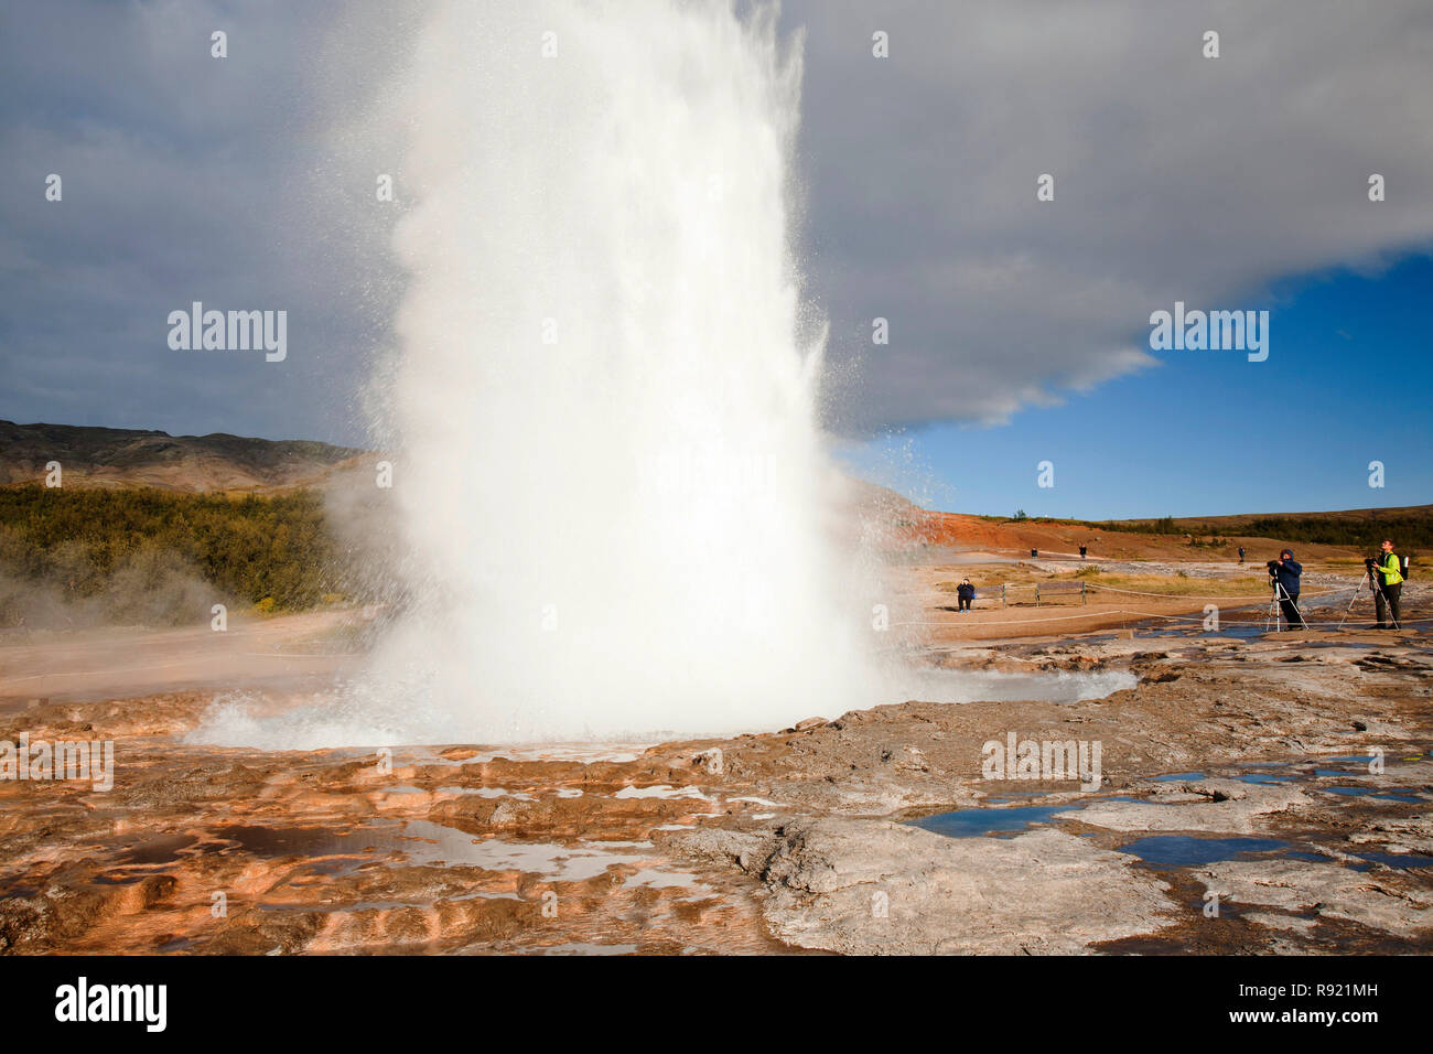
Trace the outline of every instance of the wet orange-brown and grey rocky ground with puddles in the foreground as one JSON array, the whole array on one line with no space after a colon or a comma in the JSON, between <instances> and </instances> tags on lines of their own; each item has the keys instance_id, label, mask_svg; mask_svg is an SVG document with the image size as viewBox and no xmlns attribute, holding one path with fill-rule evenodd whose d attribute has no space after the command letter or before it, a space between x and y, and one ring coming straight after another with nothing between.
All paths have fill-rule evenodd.
<instances>
[{"instance_id":1,"label":"wet orange-brown and grey rocky ground with puddles in the foreground","mask_svg":"<svg viewBox=\"0 0 1433 1054\"><path fill-rule=\"evenodd\" d=\"M926 661L1138 683L666 744L258 751L182 743L208 690L36 701L0 739L113 740L115 784L0 780L0 948L1433 951L1433 655L1366 637L964 648ZM1099 789L984 779L1010 733L1101 743Z\"/></svg>"}]
</instances>

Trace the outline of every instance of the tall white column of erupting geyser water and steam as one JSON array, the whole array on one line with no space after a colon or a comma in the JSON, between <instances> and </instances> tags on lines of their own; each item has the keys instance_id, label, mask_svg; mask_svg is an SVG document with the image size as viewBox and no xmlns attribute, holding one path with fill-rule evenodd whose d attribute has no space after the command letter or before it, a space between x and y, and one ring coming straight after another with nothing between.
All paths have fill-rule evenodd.
<instances>
[{"instance_id":1,"label":"tall white column of erupting geyser water and steam","mask_svg":"<svg viewBox=\"0 0 1433 1054\"><path fill-rule=\"evenodd\" d=\"M411 739L780 727L870 698L791 244L798 47L727 3L450 3L404 80L383 400Z\"/></svg>"}]
</instances>

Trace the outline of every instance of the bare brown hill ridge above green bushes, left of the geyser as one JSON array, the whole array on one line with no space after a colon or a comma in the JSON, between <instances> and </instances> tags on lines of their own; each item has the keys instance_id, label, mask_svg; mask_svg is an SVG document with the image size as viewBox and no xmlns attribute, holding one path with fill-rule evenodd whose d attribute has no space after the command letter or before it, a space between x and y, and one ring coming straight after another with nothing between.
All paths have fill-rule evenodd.
<instances>
[{"instance_id":1,"label":"bare brown hill ridge above green bushes, left of the geyser","mask_svg":"<svg viewBox=\"0 0 1433 1054\"><path fill-rule=\"evenodd\" d=\"M249 439L215 432L171 436L148 429L16 424L0 420L0 486L44 479L59 462L66 486L162 490L274 490L322 483L367 450L304 439Z\"/></svg>"}]
</instances>

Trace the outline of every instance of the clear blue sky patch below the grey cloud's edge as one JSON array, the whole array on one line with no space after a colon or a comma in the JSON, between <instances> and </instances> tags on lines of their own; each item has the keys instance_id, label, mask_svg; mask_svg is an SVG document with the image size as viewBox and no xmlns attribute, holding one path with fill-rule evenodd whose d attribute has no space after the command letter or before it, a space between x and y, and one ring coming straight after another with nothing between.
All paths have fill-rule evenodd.
<instances>
[{"instance_id":1,"label":"clear blue sky patch below the grey cloud's edge","mask_svg":"<svg viewBox=\"0 0 1433 1054\"><path fill-rule=\"evenodd\" d=\"M1267 361L1159 351L1158 366L1063 406L1020 410L1009 424L909 429L848 445L843 457L923 505L983 515L1198 516L1433 500L1433 257L1377 275L1290 280L1274 293L1260 301L1275 305ZM1391 391L1374 387L1391 380ZM1055 465L1050 489L1036 485L1042 460ZM1384 465L1383 489L1369 486L1371 460Z\"/></svg>"}]
</instances>

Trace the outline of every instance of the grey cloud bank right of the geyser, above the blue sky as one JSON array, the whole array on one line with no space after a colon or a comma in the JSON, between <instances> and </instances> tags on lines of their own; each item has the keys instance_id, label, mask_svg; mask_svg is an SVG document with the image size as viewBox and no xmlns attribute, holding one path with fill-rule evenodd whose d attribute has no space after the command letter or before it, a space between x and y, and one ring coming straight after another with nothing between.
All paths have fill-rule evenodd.
<instances>
[{"instance_id":1,"label":"grey cloud bank right of the geyser, above the blue sky","mask_svg":"<svg viewBox=\"0 0 1433 1054\"><path fill-rule=\"evenodd\" d=\"M1151 366L1148 315L1175 300L1271 307L1277 278L1433 245L1423 0L811 0L785 20L807 26L811 287L833 359L860 363L835 371L843 430L1000 420Z\"/></svg>"}]
</instances>

